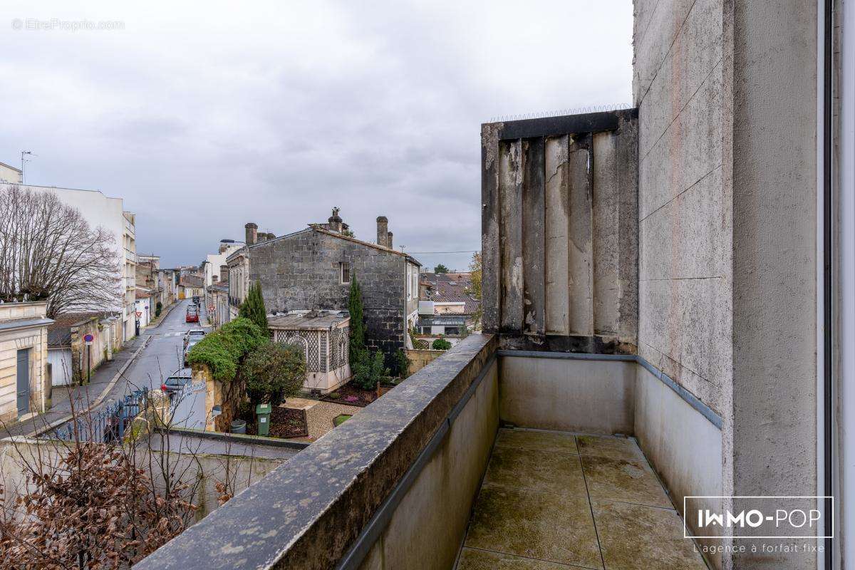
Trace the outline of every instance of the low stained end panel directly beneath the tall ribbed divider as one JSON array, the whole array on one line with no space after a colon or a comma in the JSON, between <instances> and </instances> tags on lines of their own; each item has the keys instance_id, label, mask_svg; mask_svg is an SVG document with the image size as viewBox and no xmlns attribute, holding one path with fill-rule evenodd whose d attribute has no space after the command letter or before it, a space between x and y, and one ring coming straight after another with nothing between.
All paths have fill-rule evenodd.
<instances>
[{"instance_id":1,"label":"low stained end panel directly beneath the tall ribbed divider","mask_svg":"<svg viewBox=\"0 0 855 570\"><path fill-rule=\"evenodd\" d=\"M499 360L502 420L568 432L632 433L634 362L521 356Z\"/></svg>"}]
</instances>

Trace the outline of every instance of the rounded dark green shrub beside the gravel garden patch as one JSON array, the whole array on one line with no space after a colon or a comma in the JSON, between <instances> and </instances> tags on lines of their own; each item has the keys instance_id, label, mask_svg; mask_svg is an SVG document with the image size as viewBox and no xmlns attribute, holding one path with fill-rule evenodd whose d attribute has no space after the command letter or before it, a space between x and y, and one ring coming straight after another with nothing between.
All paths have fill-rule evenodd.
<instances>
[{"instance_id":1,"label":"rounded dark green shrub beside the gravel garden patch","mask_svg":"<svg viewBox=\"0 0 855 570\"><path fill-rule=\"evenodd\" d=\"M246 381L246 394L255 404L278 406L283 398L294 396L303 387L306 357L293 344L267 343L252 350L240 365Z\"/></svg>"}]
</instances>

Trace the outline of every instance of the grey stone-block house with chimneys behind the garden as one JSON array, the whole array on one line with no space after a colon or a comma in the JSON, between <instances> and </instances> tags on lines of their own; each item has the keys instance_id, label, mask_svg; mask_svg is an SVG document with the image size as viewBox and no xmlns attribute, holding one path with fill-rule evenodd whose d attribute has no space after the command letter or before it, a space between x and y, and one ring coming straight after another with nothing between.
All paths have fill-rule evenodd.
<instances>
[{"instance_id":1,"label":"grey stone-block house with chimneys behind the garden","mask_svg":"<svg viewBox=\"0 0 855 570\"><path fill-rule=\"evenodd\" d=\"M377 243L348 235L338 209L325 224L311 224L279 238L246 224L245 247L227 259L231 316L247 291L262 284L268 313L294 310L347 309L351 275L363 291L367 341L391 355L409 343L407 331L418 319L418 274L421 263L392 249L385 216L377 218Z\"/></svg>"}]
</instances>

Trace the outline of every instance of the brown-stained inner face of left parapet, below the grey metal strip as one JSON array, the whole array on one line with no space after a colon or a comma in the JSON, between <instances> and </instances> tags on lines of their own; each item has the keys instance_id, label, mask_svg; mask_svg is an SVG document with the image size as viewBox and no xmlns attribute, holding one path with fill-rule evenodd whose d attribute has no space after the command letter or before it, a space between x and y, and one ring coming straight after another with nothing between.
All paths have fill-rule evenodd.
<instances>
[{"instance_id":1,"label":"brown-stained inner face of left parapet, below the grey metal strip","mask_svg":"<svg viewBox=\"0 0 855 570\"><path fill-rule=\"evenodd\" d=\"M493 361L443 444L395 509L361 570L454 566L497 430L498 364Z\"/></svg>"}]
</instances>

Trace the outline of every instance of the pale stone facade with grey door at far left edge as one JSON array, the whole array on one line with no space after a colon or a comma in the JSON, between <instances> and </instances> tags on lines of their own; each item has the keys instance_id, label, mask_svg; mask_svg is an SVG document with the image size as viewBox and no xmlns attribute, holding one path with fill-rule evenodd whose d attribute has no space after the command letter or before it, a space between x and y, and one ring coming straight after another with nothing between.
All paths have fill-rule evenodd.
<instances>
[{"instance_id":1,"label":"pale stone facade with grey door at far left edge","mask_svg":"<svg viewBox=\"0 0 855 570\"><path fill-rule=\"evenodd\" d=\"M0 420L48 408L47 303L0 303Z\"/></svg>"}]
</instances>

